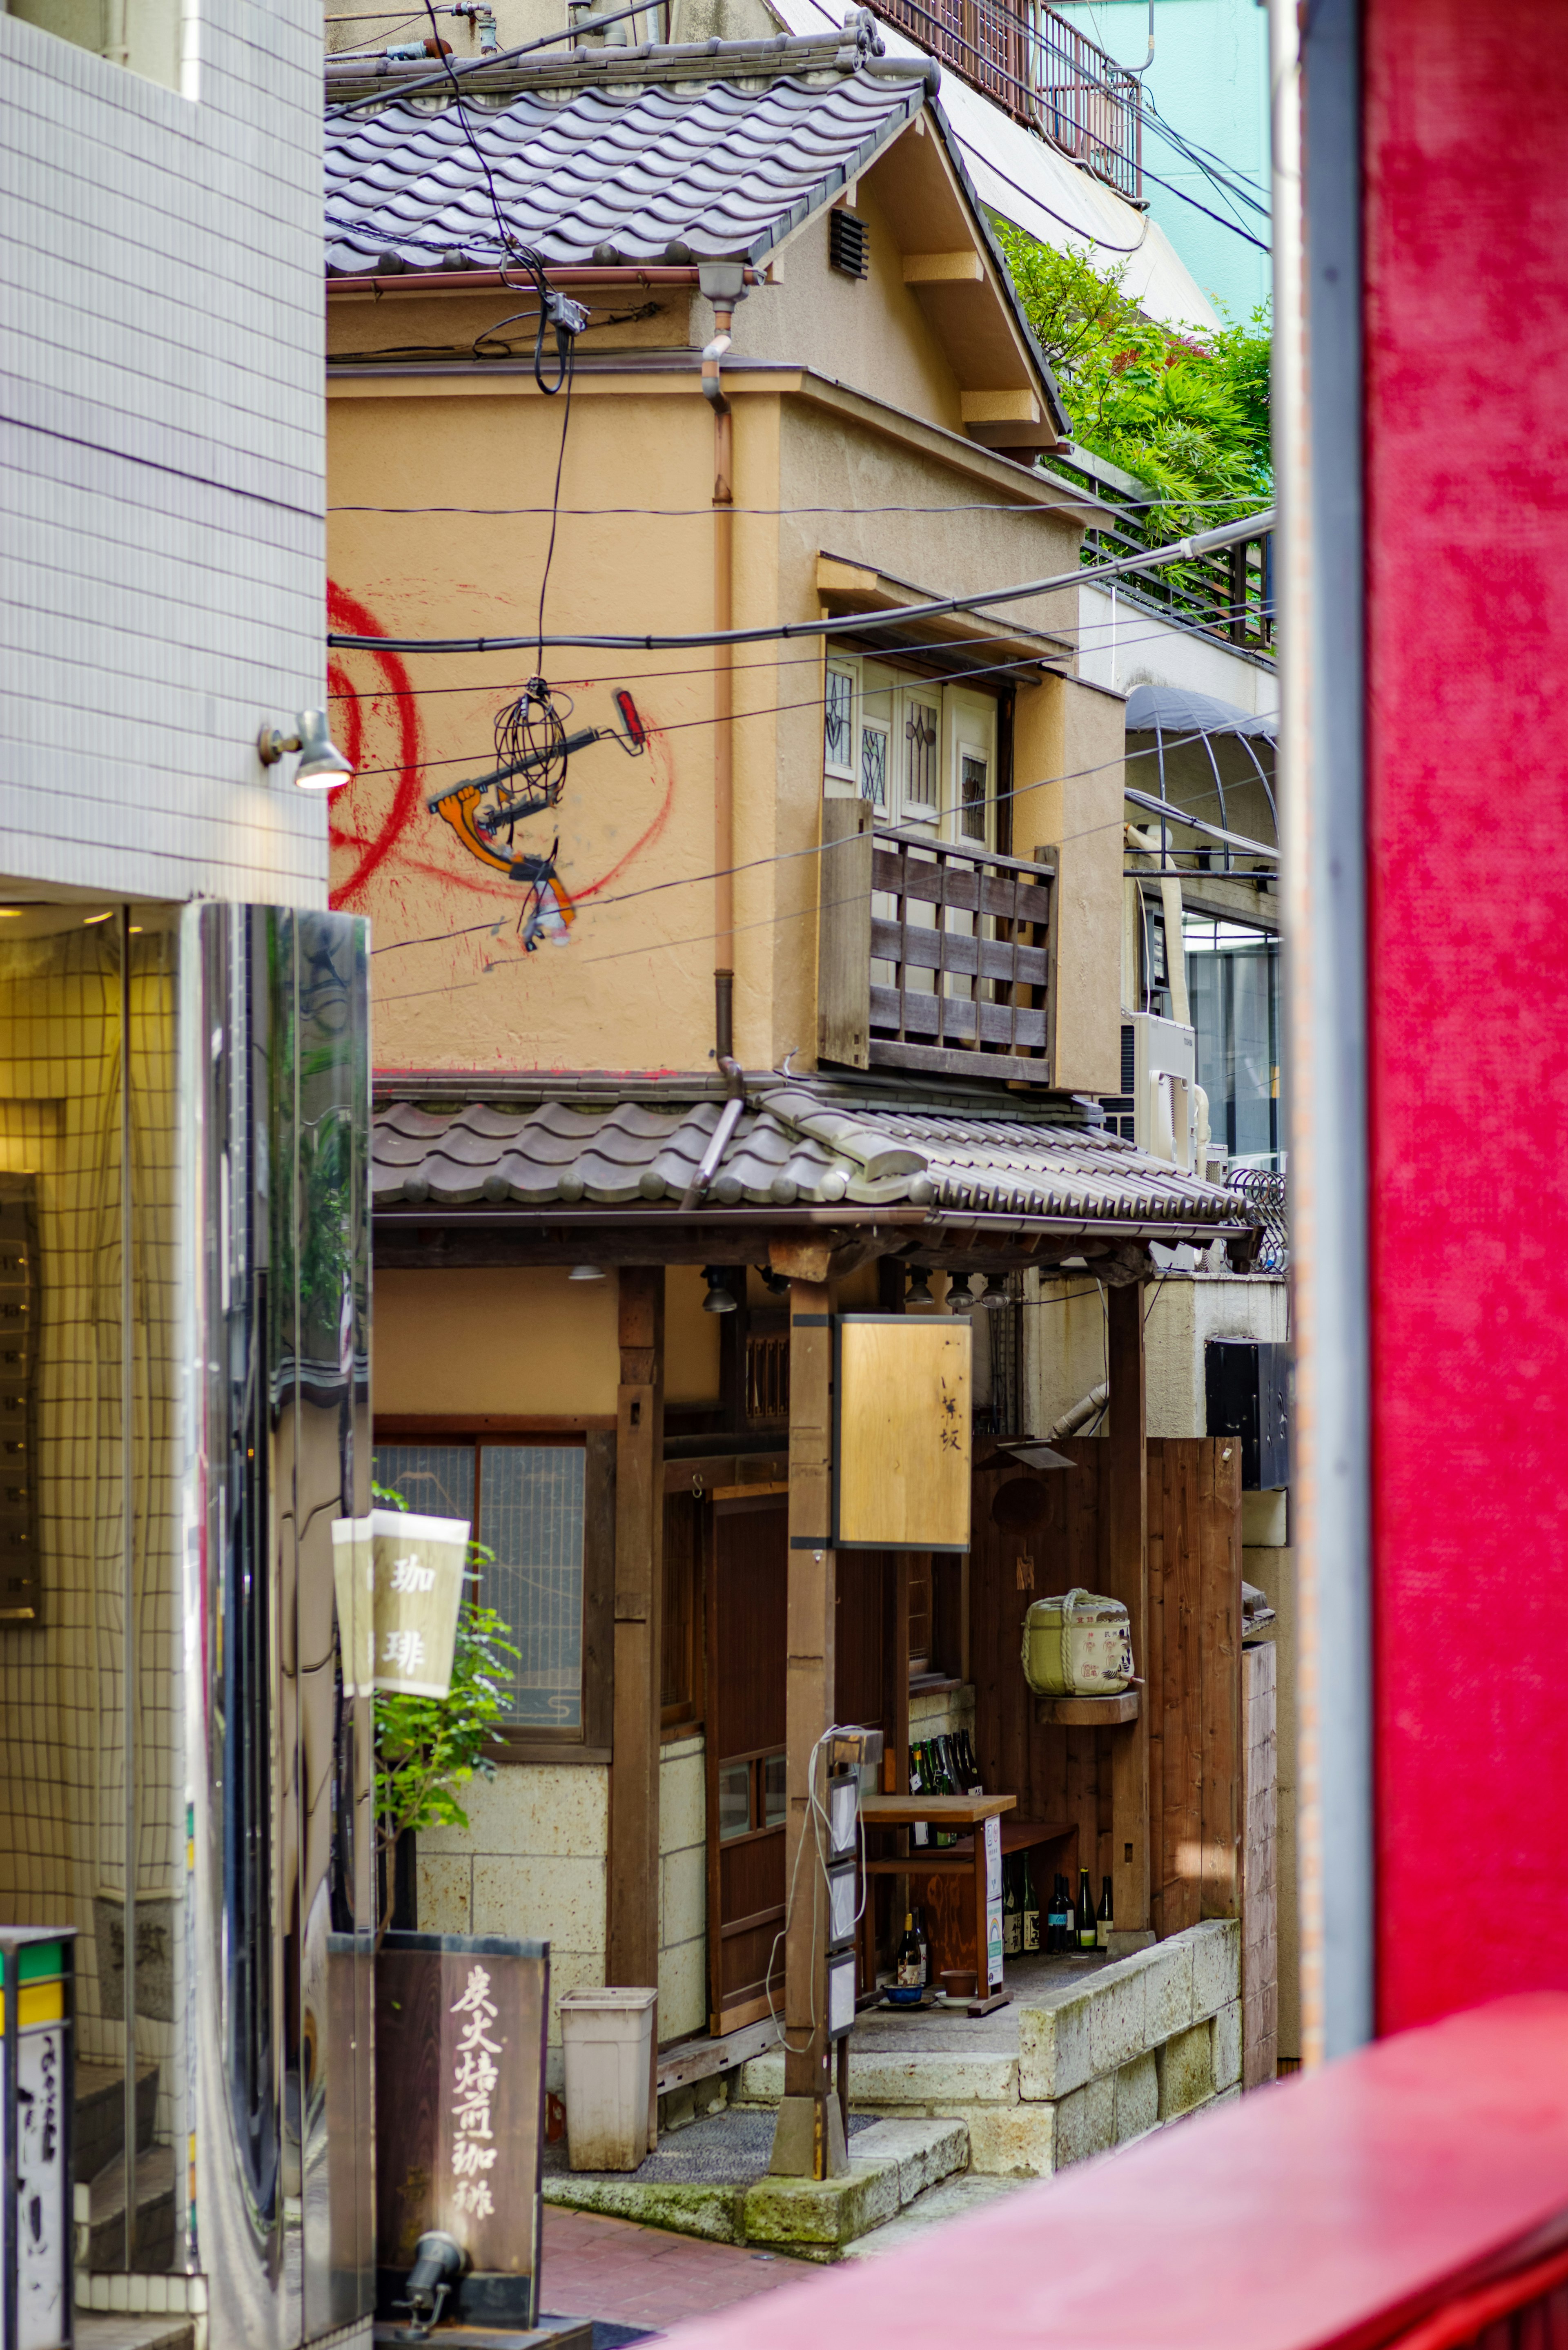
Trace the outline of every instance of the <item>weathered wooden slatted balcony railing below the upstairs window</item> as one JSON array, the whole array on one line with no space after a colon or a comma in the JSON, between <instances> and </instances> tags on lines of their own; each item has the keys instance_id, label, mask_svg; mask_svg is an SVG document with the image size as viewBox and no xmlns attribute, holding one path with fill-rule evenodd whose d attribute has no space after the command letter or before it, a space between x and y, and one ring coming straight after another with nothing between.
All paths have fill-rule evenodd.
<instances>
[{"instance_id":1,"label":"weathered wooden slatted balcony railing below the upstairs window","mask_svg":"<svg viewBox=\"0 0 1568 2350\"><path fill-rule=\"evenodd\" d=\"M818 1055L1051 1083L1056 865L823 804Z\"/></svg>"}]
</instances>

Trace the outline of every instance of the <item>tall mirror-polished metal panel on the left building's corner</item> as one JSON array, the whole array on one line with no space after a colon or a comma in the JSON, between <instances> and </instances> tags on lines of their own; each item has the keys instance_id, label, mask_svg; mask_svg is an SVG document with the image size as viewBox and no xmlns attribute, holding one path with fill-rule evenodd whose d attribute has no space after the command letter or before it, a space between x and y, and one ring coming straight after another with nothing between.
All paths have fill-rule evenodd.
<instances>
[{"instance_id":1,"label":"tall mirror-polished metal panel on the left building's corner","mask_svg":"<svg viewBox=\"0 0 1568 2350\"><path fill-rule=\"evenodd\" d=\"M362 924L193 907L183 982L193 2228L214 2341L294 2350L371 2308Z\"/></svg>"}]
</instances>

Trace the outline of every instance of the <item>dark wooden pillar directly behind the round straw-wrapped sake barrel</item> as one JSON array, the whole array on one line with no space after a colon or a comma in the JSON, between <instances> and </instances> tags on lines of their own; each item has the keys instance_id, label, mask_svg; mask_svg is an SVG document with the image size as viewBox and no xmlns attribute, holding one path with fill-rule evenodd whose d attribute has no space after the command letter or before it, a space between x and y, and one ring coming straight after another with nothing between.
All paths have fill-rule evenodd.
<instances>
[{"instance_id":1,"label":"dark wooden pillar directly behind the round straw-wrapped sake barrel","mask_svg":"<svg viewBox=\"0 0 1568 2350\"><path fill-rule=\"evenodd\" d=\"M1150 1488L1147 1394L1143 1358L1143 1283L1107 1292L1110 1302L1110 1596L1133 1626L1133 1671L1147 1668L1150 1643ZM1140 1692L1147 1699L1147 1687ZM1150 1934L1150 1716L1100 1732L1112 1748L1112 1904L1117 1934ZM1093 1861L1088 1864L1093 1868ZM1126 1948L1126 1946L1124 1946Z\"/></svg>"}]
</instances>

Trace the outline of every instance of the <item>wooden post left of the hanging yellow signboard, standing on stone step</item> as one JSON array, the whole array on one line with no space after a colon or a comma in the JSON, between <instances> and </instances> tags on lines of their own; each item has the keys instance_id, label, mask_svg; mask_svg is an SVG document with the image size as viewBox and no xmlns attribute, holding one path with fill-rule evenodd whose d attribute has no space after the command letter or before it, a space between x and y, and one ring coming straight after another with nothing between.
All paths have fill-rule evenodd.
<instances>
[{"instance_id":1,"label":"wooden post left of the hanging yellow signboard, standing on stone step","mask_svg":"<svg viewBox=\"0 0 1568 2350\"><path fill-rule=\"evenodd\" d=\"M790 1631L785 1697L785 2094L771 2169L790 2178L842 2178L844 2122L832 2096L827 2042L827 1896L816 1882L811 1753L832 1725L832 1314L827 1285L790 1283ZM820 1758L818 1758L820 1791ZM806 1849L802 1852L802 1838ZM799 1873L797 1873L799 1859Z\"/></svg>"}]
</instances>

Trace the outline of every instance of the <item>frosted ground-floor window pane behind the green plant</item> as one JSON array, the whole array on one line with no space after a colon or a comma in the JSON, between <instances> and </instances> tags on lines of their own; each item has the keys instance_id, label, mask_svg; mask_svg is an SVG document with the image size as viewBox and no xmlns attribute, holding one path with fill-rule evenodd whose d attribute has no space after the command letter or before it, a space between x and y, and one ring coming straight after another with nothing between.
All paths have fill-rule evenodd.
<instances>
[{"instance_id":1,"label":"frosted ground-floor window pane behind the green plant","mask_svg":"<svg viewBox=\"0 0 1568 2350\"><path fill-rule=\"evenodd\" d=\"M480 1542L496 1553L480 1596L522 1650L505 1720L517 1730L583 1723L583 1471L581 1445L484 1445Z\"/></svg>"}]
</instances>

